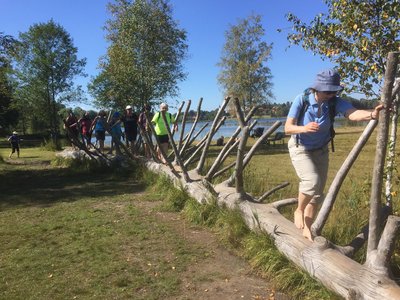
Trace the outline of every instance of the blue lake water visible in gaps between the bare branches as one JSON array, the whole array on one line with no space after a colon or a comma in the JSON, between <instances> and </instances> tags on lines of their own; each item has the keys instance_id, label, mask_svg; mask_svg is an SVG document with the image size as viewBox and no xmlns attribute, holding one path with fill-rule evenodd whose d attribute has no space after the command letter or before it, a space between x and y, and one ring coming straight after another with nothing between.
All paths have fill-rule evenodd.
<instances>
[{"instance_id":1,"label":"blue lake water visible in gaps between the bare branches","mask_svg":"<svg viewBox=\"0 0 400 300\"><path fill-rule=\"evenodd\" d=\"M286 117L285 118L260 118L257 119L257 124L255 125L254 128L257 127L264 127L265 129L268 129L269 127L271 127L276 121L281 121L282 125L277 129L277 131L284 131L283 127L284 127L284 122L286 121ZM211 126L212 126L212 120L211 121L199 121L196 124L196 128L195 131L193 132L192 137L199 131L200 128L202 128L204 126L204 124L208 123L208 126L206 128L204 128L204 130L199 134L199 136L196 138L197 140L201 140L210 130ZM184 137L187 133L189 133L190 129L192 128L193 123L189 123L187 122L185 125L185 130L184 130ZM232 136L232 134L235 132L236 128L239 126L238 122L236 119L229 119L226 120L224 125L222 125L219 130L215 133L215 135L213 136L213 140L218 139L221 136L226 137L230 137ZM180 132L182 129L182 124L178 124L178 131L175 132L174 134L174 140L178 140L180 137ZM264 130L265 130L264 129ZM93 139L93 142L95 142L96 140ZM111 144L111 136L107 135L106 136L106 140L105 140L105 144L106 145L110 145Z\"/></svg>"}]
</instances>

